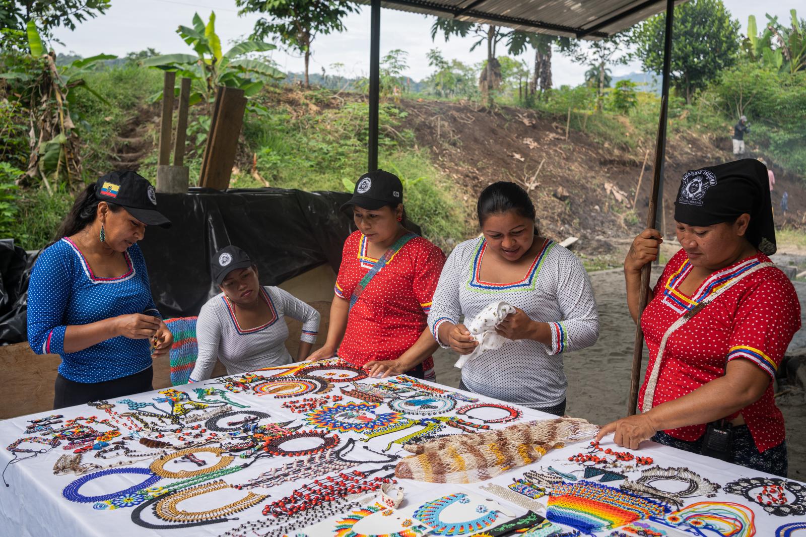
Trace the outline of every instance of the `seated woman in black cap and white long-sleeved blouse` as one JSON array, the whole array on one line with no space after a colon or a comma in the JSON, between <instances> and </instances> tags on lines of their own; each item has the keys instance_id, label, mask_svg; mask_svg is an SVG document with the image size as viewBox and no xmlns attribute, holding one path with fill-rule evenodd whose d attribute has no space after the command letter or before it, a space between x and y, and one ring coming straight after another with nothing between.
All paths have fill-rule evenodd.
<instances>
[{"instance_id":1,"label":"seated woman in black cap and white long-sleeved blouse","mask_svg":"<svg viewBox=\"0 0 806 537\"><path fill-rule=\"evenodd\" d=\"M319 331L317 310L279 287L260 285L256 264L237 246L215 252L210 273L221 293L199 312L198 358L189 381L209 379L217 358L230 375L290 364L286 315L302 322L297 361L308 357Z\"/></svg>"}]
</instances>

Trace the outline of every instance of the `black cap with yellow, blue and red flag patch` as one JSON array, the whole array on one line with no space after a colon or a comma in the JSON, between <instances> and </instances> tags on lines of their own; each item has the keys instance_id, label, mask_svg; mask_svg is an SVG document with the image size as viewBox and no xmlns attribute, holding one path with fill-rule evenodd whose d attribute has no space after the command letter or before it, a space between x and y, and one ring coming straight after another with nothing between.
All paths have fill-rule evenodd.
<instances>
[{"instance_id":1,"label":"black cap with yellow, blue and red flag patch","mask_svg":"<svg viewBox=\"0 0 806 537\"><path fill-rule=\"evenodd\" d=\"M124 169L98 179L95 197L124 207L129 214L148 226L171 227L171 221L156 210L156 190L145 177Z\"/></svg>"}]
</instances>

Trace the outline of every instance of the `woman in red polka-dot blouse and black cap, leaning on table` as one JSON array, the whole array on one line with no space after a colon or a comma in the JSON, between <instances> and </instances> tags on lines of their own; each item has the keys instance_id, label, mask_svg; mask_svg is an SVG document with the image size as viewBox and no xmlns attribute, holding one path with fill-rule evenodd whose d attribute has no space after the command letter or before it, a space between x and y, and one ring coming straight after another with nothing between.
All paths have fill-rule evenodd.
<instances>
[{"instance_id":1,"label":"woman in red polka-dot blouse and black cap, leaning on table","mask_svg":"<svg viewBox=\"0 0 806 537\"><path fill-rule=\"evenodd\" d=\"M358 231L344 241L327 340L310 360L338 348L339 357L372 375L434 380L437 343L426 320L445 255L403 226L402 196L400 179L380 169L355 184L343 208L352 210Z\"/></svg>"}]
</instances>

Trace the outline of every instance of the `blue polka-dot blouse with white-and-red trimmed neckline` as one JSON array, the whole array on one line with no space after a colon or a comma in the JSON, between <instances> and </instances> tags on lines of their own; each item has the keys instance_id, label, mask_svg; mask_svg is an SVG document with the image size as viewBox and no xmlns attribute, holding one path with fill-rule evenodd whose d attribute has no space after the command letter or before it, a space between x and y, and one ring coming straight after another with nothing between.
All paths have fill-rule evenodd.
<instances>
[{"instance_id":1,"label":"blue polka-dot blouse with white-and-red trimmed neckline","mask_svg":"<svg viewBox=\"0 0 806 537\"><path fill-rule=\"evenodd\" d=\"M75 382L127 377L152 364L147 339L113 337L79 352L64 352L64 331L125 314L160 317L148 282L143 252L132 245L124 253L127 273L95 277L81 251L65 237L45 248L28 284L28 343L37 354L61 356L59 373Z\"/></svg>"}]
</instances>

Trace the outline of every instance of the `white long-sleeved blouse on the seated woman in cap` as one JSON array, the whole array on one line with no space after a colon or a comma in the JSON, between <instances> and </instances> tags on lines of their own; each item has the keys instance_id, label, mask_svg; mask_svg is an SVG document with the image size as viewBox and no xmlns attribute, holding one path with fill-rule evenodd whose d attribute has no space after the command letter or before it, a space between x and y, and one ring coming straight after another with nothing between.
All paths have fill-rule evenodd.
<instances>
[{"instance_id":1,"label":"white long-sleeved blouse on the seated woman in cap","mask_svg":"<svg viewBox=\"0 0 806 537\"><path fill-rule=\"evenodd\" d=\"M190 373L191 382L209 379L216 358L230 375L290 364L293 360L285 348L285 340L289 338L285 315L302 322L301 341L316 341L317 310L283 289L268 285L260 289L262 299L272 310L272 318L260 327L240 327L224 293L218 293L202 306L196 322L199 354Z\"/></svg>"}]
</instances>

